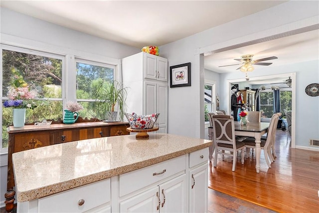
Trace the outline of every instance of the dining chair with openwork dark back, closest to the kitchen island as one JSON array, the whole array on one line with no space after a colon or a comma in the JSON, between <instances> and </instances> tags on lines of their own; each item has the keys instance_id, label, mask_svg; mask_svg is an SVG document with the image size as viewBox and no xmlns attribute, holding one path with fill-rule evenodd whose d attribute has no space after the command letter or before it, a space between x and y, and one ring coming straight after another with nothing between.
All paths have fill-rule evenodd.
<instances>
[{"instance_id":1,"label":"dining chair with openwork dark back, closest to the kitchen island","mask_svg":"<svg viewBox=\"0 0 319 213\"><path fill-rule=\"evenodd\" d=\"M213 115L213 143L215 145L214 167L217 166L217 155L233 158L232 171L235 171L237 151L241 150L241 164L244 164L245 143L237 141L235 137L234 118L230 115ZM227 153L225 151L229 151Z\"/></svg>"}]
</instances>

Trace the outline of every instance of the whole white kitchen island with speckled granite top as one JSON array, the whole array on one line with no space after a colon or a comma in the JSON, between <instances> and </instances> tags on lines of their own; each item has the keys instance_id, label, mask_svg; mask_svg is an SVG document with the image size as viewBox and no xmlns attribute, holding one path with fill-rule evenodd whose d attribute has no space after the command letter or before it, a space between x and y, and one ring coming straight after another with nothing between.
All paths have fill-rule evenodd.
<instances>
[{"instance_id":1,"label":"whole white kitchen island with speckled granite top","mask_svg":"<svg viewBox=\"0 0 319 213\"><path fill-rule=\"evenodd\" d=\"M207 212L210 145L125 135L14 153L17 212Z\"/></svg>"}]
</instances>

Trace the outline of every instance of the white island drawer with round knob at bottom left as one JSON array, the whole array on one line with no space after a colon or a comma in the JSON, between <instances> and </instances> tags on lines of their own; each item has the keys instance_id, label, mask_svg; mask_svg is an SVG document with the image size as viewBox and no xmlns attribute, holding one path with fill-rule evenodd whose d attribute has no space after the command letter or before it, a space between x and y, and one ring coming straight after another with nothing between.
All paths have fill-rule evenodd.
<instances>
[{"instance_id":1,"label":"white island drawer with round knob at bottom left","mask_svg":"<svg viewBox=\"0 0 319 213\"><path fill-rule=\"evenodd\" d=\"M84 200L82 206L78 205ZM38 200L38 212L81 213L111 201L111 180L106 179Z\"/></svg>"}]
</instances>

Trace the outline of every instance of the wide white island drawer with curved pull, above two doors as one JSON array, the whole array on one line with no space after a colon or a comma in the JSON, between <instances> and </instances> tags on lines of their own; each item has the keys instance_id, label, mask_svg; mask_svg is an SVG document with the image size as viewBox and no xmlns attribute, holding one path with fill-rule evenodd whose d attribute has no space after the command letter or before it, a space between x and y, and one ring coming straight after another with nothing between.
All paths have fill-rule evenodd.
<instances>
[{"instance_id":1,"label":"wide white island drawer with curved pull, above two doors","mask_svg":"<svg viewBox=\"0 0 319 213\"><path fill-rule=\"evenodd\" d=\"M208 156L208 155L207 155ZM120 197L159 182L186 169L186 156L180 156L120 175ZM154 175L154 173L161 173Z\"/></svg>"}]
</instances>

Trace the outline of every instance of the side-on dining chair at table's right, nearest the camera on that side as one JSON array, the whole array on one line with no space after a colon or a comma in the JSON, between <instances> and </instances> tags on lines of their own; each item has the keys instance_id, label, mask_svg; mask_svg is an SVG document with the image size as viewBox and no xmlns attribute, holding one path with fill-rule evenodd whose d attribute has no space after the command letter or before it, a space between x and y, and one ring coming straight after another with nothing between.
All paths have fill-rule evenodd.
<instances>
[{"instance_id":1,"label":"side-on dining chair at table's right, nearest the camera on that side","mask_svg":"<svg viewBox=\"0 0 319 213\"><path fill-rule=\"evenodd\" d=\"M261 139L260 147L262 150L264 150L264 156L267 163L268 168L271 168L271 163L274 162L274 158L271 153L271 146L274 144L276 140L276 130L277 130L277 124L279 117L281 116L281 113L275 113L270 120L268 133L267 133L267 139L263 140ZM245 143L246 148L252 148L255 149L256 143L255 138L247 138L242 141ZM247 152L246 152L247 154Z\"/></svg>"}]
</instances>

